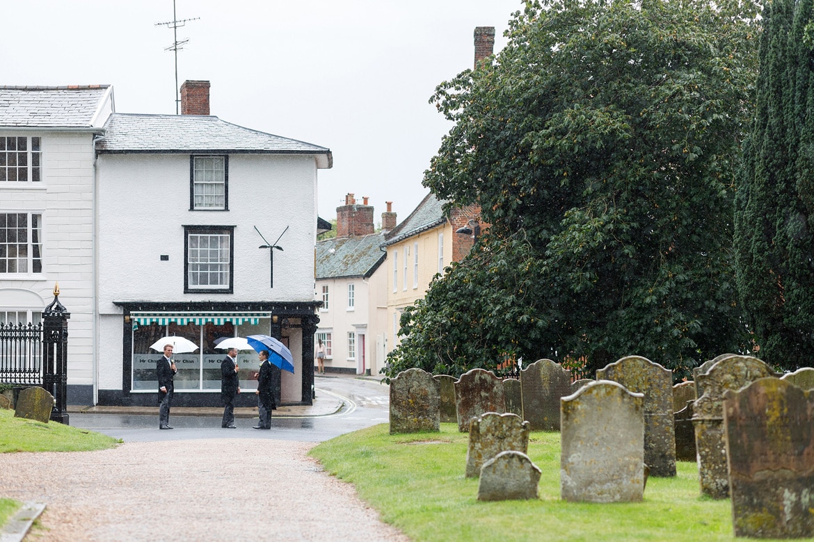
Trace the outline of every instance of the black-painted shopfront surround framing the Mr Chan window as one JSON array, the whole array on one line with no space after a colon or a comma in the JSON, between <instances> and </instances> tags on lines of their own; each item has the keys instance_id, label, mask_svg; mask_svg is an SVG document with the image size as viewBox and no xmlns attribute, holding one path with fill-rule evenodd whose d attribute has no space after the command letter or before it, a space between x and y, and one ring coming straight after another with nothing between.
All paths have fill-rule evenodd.
<instances>
[{"instance_id":1,"label":"black-painted shopfront surround framing the Mr Chan window","mask_svg":"<svg viewBox=\"0 0 814 542\"><path fill-rule=\"evenodd\" d=\"M199 314L205 312L221 313L268 313L272 318L269 323L268 335L275 338L282 337L283 327L288 321L299 320L299 324L291 327L302 329L302 363L304 371L301 375L302 400L291 405L312 405L313 404L313 336L317 332L319 317L316 312L321 301L295 302L295 301L259 301L254 303L246 302L212 302L212 301L181 301L181 302L160 302L160 301L115 301L116 306L122 309L122 387L120 390L99 389L98 405L121 405L121 406L155 406L158 404L158 390L155 393L131 392L132 372L133 372L133 322L131 313L133 312L161 312L175 314ZM276 322L274 322L276 317ZM294 353L296 355L296 353ZM277 381L277 395L279 401L280 374L277 367L274 367L274 377ZM212 392L182 392L177 391L173 395L173 406L222 406L220 389ZM256 396L254 393L239 394L236 406L256 406Z\"/></svg>"}]
</instances>

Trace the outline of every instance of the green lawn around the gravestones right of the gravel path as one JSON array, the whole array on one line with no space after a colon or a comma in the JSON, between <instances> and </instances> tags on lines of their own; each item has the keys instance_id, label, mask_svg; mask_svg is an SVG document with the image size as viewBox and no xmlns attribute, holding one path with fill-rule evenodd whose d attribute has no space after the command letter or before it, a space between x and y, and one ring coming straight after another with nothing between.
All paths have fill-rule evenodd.
<instances>
[{"instance_id":1,"label":"green lawn around the gravestones right of the gravel path","mask_svg":"<svg viewBox=\"0 0 814 542\"><path fill-rule=\"evenodd\" d=\"M528 455L542 470L539 499L481 502L478 479L464 476L468 435L457 424L442 423L440 433L388 431L385 423L339 436L310 455L416 542L734 540L729 499L700 496L694 462L679 462L675 478L650 477L642 502L571 503L560 500L560 435L535 431Z\"/></svg>"}]
</instances>

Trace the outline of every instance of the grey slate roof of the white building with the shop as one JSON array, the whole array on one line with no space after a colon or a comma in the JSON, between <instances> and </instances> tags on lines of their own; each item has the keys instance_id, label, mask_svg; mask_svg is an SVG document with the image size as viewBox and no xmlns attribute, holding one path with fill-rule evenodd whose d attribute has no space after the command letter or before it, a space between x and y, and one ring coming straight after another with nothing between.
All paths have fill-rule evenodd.
<instances>
[{"instance_id":1,"label":"grey slate roof of the white building with the shop","mask_svg":"<svg viewBox=\"0 0 814 542\"><path fill-rule=\"evenodd\" d=\"M105 124L100 153L314 154L331 167L330 149L227 123L216 116L114 113ZM322 156L322 160L320 160Z\"/></svg>"}]
</instances>

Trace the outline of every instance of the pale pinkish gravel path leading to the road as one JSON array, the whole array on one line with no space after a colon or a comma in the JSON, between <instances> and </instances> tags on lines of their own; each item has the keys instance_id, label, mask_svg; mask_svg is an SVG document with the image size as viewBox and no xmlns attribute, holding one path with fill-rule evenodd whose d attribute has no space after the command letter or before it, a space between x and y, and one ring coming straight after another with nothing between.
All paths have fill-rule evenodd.
<instances>
[{"instance_id":1,"label":"pale pinkish gravel path leading to the road","mask_svg":"<svg viewBox=\"0 0 814 542\"><path fill-rule=\"evenodd\" d=\"M47 508L26 540L409 539L306 457L313 443L183 440L4 453L0 495Z\"/></svg>"}]
</instances>

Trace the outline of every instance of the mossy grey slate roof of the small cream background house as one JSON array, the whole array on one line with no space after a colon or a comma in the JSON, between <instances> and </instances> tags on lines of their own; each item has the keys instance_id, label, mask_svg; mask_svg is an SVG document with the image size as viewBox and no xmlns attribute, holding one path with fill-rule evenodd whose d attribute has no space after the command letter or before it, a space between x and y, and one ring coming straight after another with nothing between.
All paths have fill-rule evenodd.
<instances>
[{"instance_id":1,"label":"mossy grey slate roof of the small cream background house","mask_svg":"<svg viewBox=\"0 0 814 542\"><path fill-rule=\"evenodd\" d=\"M387 257L383 242L383 233L317 241L317 280L373 275Z\"/></svg>"}]
</instances>

